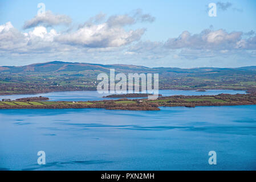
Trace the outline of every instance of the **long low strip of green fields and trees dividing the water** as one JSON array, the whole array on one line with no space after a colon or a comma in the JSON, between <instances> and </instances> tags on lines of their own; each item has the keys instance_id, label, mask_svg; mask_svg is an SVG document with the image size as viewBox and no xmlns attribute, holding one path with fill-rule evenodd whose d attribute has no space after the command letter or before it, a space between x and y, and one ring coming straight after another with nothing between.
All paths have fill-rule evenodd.
<instances>
[{"instance_id":1,"label":"long low strip of green fields and trees dividing the water","mask_svg":"<svg viewBox=\"0 0 256 182\"><path fill-rule=\"evenodd\" d=\"M82 109L103 108L108 110L160 110L159 107L235 106L256 105L256 93L218 94L214 96L167 96L156 100L121 98L103 101L15 101L0 102L0 109ZM27 99L26 99L27 100Z\"/></svg>"}]
</instances>

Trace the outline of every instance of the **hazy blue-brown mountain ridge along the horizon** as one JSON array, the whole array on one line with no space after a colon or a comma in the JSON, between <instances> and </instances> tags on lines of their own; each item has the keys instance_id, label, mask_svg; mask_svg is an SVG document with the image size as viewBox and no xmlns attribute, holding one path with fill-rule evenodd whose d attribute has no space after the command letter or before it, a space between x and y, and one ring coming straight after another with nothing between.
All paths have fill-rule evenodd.
<instances>
[{"instance_id":1,"label":"hazy blue-brown mountain ridge along the horizon","mask_svg":"<svg viewBox=\"0 0 256 182\"><path fill-rule=\"evenodd\" d=\"M1 72L12 72L12 73L25 73L25 72L76 72L76 71L100 71L109 72L109 69L116 69L117 72L124 73L136 73L136 72L174 72L174 73L207 73L207 72L223 72L223 71L256 71L256 66L241 67L241 68L148 68L139 65L125 65L125 64L89 64L89 63L68 63L63 61L51 61L47 63L30 64L21 67L15 66L2 66L0 67Z\"/></svg>"}]
</instances>

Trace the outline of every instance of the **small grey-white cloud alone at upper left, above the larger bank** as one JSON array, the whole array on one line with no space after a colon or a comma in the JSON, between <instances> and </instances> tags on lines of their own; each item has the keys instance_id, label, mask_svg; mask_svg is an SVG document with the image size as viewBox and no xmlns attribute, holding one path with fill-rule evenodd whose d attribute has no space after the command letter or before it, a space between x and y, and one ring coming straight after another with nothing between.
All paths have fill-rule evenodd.
<instances>
[{"instance_id":1,"label":"small grey-white cloud alone at upper left, above the larger bank","mask_svg":"<svg viewBox=\"0 0 256 182\"><path fill-rule=\"evenodd\" d=\"M24 29L42 25L44 27L51 27L59 24L70 24L71 18L67 15L55 15L51 11L46 11L45 15L36 15L34 18L27 20L23 26Z\"/></svg>"}]
</instances>

